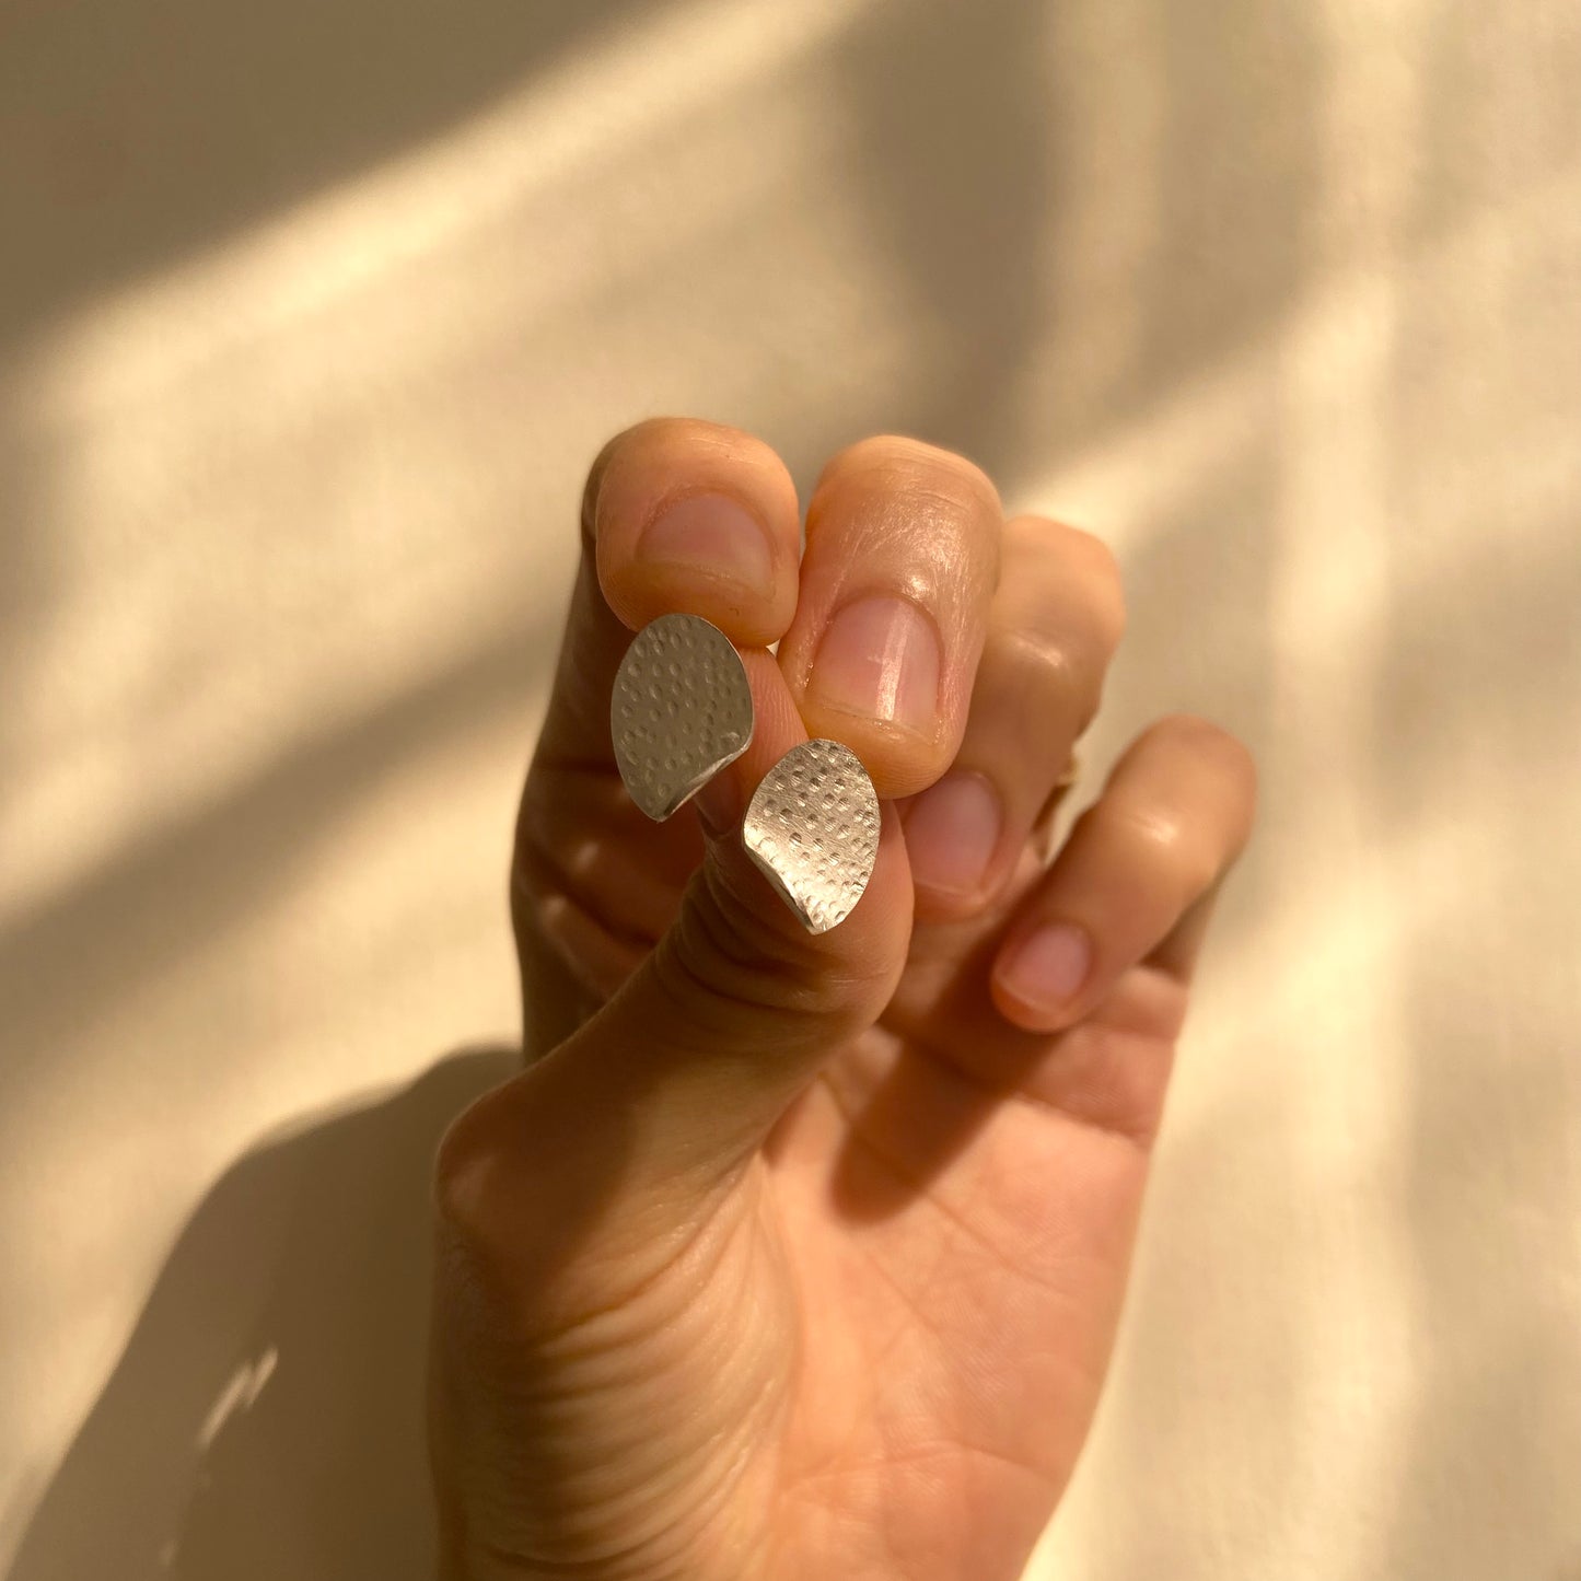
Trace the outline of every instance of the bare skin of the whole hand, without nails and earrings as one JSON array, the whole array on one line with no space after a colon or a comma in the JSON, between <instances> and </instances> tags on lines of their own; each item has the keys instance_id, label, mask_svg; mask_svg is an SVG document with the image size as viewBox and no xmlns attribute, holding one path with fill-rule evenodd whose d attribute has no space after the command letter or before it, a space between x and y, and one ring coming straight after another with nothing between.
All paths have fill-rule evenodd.
<instances>
[{"instance_id":1,"label":"bare skin of the whole hand, without nails and earrings","mask_svg":"<svg viewBox=\"0 0 1581 1581\"><path fill-rule=\"evenodd\" d=\"M655 514L697 496L745 509L753 575L643 557ZM1251 759L1162 719L1050 852L1121 637L1108 552L1006 522L972 463L893 436L830 460L805 557L800 522L779 458L715 424L642 424L588 479L512 870L530 1064L438 1160L451 1581L1009 1581L1092 1420ZM819 680L830 617L896 591L939 643L917 729ZM738 645L757 726L650 824L609 697L631 632L670 610ZM885 798L868 892L817 938L738 840L809 734ZM1002 813L964 887L930 876L920 811L952 773ZM1088 941L1064 998L1012 982L1043 922Z\"/></svg>"}]
</instances>

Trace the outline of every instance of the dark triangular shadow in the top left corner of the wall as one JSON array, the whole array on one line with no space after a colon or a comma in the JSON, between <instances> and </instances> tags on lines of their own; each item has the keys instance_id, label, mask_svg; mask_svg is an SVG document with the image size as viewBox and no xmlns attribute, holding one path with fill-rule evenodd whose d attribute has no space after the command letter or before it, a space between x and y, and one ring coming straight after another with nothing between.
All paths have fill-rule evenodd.
<instances>
[{"instance_id":1,"label":"dark triangular shadow in the top left corner of the wall","mask_svg":"<svg viewBox=\"0 0 1581 1581\"><path fill-rule=\"evenodd\" d=\"M22 0L0 21L0 346L443 136L653 0Z\"/></svg>"}]
</instances>

